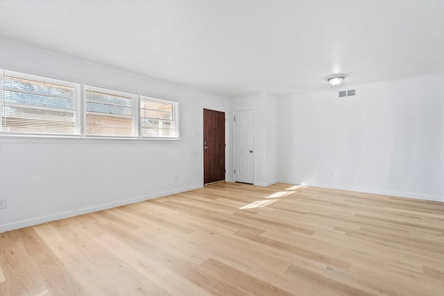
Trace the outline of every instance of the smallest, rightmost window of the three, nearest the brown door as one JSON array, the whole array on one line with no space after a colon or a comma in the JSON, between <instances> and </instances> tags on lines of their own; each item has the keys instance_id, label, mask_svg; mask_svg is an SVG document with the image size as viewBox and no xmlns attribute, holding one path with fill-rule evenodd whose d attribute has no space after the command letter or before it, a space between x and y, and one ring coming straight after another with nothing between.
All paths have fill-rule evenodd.
<instances>
[{"instance_id":1,"label":"smallest, rightmost window of the three, nearest the brown door","mask_svg":"<svg viewBox=\"0 0 444 296\"><path fill-rule=\"evenodd\" d=\"M178 103L142 96L140 128L144 138L178 138Z\"/></svg>"}]
</instances>

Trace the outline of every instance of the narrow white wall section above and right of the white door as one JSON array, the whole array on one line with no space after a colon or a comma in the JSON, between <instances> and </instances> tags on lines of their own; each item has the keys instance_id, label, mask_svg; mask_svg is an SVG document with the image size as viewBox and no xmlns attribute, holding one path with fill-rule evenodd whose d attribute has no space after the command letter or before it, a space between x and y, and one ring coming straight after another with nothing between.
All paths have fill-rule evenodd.
<instances>
[{"instance_id":1,"label":"narrow white wall section above and right of the white door","mask_svg":"<svg viewBox=\"0 0 444 296\"><path fill-rule=\"evenodd\" d=\"M278 182L278 143L275 126L278 116L278 96L273 94L249 94L232 98L233 112L254 112L254 184L268 186ZM233 113L234 114L234 113Z\"/></svg>"}]
</instances>

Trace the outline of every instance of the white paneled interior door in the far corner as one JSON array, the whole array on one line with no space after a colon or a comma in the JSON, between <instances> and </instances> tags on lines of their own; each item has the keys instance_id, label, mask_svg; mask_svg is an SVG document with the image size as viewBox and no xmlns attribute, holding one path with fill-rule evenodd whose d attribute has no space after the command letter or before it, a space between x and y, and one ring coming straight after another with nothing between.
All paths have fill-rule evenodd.
<instances>
[{"instance_id":1,"label":"white paneled interior door in the far corner","mask_svg":"<svg viewBox=\"0 0 444 296\"><path fill-rule=\"evenodd\" d=\"M253 110L234 112L234 180L253 184Z\"/></svg>"}]
</instances>

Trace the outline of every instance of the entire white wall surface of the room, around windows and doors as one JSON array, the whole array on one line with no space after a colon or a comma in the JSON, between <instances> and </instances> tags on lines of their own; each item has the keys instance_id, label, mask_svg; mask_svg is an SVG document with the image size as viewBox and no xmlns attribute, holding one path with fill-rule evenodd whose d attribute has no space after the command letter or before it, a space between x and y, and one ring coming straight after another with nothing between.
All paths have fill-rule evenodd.
<instances>
[{"instance_id":1,"label":"entire white wall surface of the room, around windows and doors","mask_svg":"<svg viewBox=\"0 0 444 296\"><path fill-rule=\"evenodd\" d=\"M254 110L255 181L444 201L444 74L222 98L0 40L0 67L180 103L180 141L0 137L0 232L203 185L203 108ZM342 89L357 96L338 98ZM197 149L199 155L190 155ZM332 173L332 175L330 175ZM178 181L174 179L178 175Z\"/></svg>"}]
</instances>

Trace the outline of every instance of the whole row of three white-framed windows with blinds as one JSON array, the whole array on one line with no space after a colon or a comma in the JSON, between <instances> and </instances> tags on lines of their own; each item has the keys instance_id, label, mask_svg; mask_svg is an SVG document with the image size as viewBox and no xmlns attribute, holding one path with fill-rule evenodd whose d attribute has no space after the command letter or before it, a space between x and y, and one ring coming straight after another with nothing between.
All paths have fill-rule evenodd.
<instances>
[{"instance_id":1,"label":"whole row of three white-framed windows with blinds","mask_svg":"<svg viewBox=\"0 0 444 296\"><path fill-rule=\"evenodd\" d=\"M1 69L0 119L0 135L179 138L176 102Z\"/></svg>"}]
</instances>

